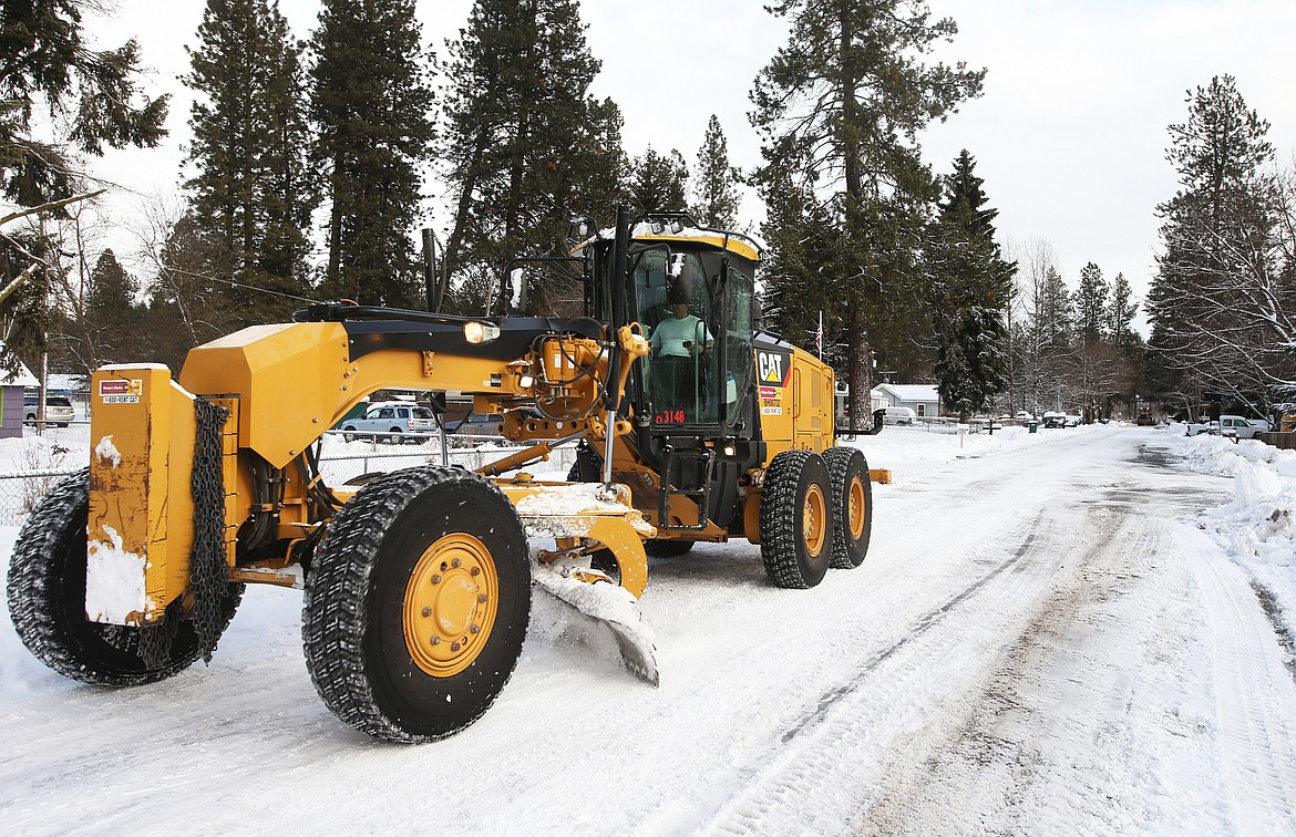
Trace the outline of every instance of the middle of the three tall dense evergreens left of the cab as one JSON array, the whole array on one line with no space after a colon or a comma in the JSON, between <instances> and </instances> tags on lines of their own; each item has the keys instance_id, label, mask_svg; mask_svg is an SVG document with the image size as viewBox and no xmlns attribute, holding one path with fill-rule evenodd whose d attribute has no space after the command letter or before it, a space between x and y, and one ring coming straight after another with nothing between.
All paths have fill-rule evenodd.
<instances>
[{"instance_id":1,"label":"middle of the three tall dense evergreens left of the cab","mask_svg":"<svg viewBox=\"0 0 1296 837\"><path fill-rule=\"evenodd\" d=\"M312 49L314 159L329 202L323 290L422 307L412 231L434 139L413 0L324 0Z\"/></svg>"}]
</instances>

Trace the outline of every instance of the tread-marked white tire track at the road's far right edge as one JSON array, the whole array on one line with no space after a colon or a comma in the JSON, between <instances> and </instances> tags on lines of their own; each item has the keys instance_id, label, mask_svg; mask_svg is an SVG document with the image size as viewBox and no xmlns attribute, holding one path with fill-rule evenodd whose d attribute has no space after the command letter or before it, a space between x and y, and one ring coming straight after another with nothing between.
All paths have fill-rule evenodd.
<instances>
[{"instance_id":1,"label":"tread-marked white tire track at the road's far right edge","mask_svg":"<svg viewBox=\"0 0 1296 837\"><path fill-rule=\"evenodd\" d=\"M1296 705L1273 626L1245 573L1217 556L1191 551L1216 645L1216 700L1221 755L1242 833L1296 831ZM1266 650L1267 649L1267 650Z\"/></svg>"}]
</instances>

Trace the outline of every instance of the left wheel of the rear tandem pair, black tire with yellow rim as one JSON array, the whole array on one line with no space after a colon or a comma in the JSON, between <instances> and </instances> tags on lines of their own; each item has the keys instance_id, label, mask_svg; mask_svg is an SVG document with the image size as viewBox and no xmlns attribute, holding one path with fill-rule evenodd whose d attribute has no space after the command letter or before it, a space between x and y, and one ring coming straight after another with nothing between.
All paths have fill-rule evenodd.
<instances>
[{"instance_id":1,"label":"left wheel of the rear tandem pair, black tire with yellow rim","mask_svg":"<svg viewBox=\"0 0 1296 837\"><path fill-rule=\"evenodd\" d=\"M784 451L765 472L761 560L779 587L805 590L823 580L832 556L832 487L813 451Z\"/></svg>"}]
</instances>

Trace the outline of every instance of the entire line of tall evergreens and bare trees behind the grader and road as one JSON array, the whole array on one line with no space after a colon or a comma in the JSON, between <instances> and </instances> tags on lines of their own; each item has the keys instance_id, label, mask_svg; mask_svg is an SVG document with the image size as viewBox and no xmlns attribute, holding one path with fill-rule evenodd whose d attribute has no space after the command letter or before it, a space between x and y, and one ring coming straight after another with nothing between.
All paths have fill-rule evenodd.
<instances>
[{"instance_id":1,"label":"entire line of tall evergreens and bare trees behind the grader and road","mask_svg":"<svg viewBox=\"0 0 1296 837\"><path fill-rule=\"evenodd\" d=\"M0 66L0 189L19 207L79 197L80 159L105 144L163 136L167 102L137 88L137 49L89 51L83 8L0 13L16 57ZM565 254L573 218L607 225L627 202L749 228L746 183L766 205L765 324L813 346L822 321L857 428L883 372L937 382L962 416L1102 415L1135 394L1188 407L1222 391L1257 409L1296 399L1293 183L1270 171L1267 124L1232 79L1190 95L1188 120L1170 128L1181 190L1157 207L1144 346L1124 275L1089 264L1069 290L1046 242L1001 246L968 150L942 174L921 161L921 131L985 79L931 57L953 19L914 0L769 10L789 36L750 92L762 162L739 172L715 117L692 166L678 149L626 153L617 102L590 93L600 62L577 0L477 0L443 61L420 40L413 0L323 0L305 41L275 0L209 0L183 79L196 93L183 200L139 231L140 276L96 247L80 203L26 216L0 229L0 337L29 361L48 350L62 371L178 369L193 345L312 299L422 307L429 181L448 207L432 295L446 311L498 310L500 268ZM48 126L61 139L32 139ZM531 290L539 312L581 299L561 269Z\"/></svg>"}]
</instances>

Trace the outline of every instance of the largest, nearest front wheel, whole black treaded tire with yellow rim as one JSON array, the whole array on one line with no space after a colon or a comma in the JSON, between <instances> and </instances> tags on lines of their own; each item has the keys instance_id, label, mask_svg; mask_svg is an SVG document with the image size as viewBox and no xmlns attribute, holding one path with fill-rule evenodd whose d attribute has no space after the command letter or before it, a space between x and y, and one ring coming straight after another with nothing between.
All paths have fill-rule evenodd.
<instances>
[{"instance_id":1,"label":"largest, nearest front wheel, whole black treaded tire with yellow rim","mask_svg":"<svg viewBox=\"0 0 1296 837\"><path fill-rule=\"evenodd\" d=\"M446 557L437 569L442 556L464 564ZM406 744L481 718L522 650L529 561L513 507L476 474L422 466L367 483L333 518L306 583L302 640L324 704L362 732ZM435 599L441 591L459 592ZM474 604L487 591L494 601ZM451 650L435 669L442 661L430 657Z\"/></svg>"}]
</instances>

